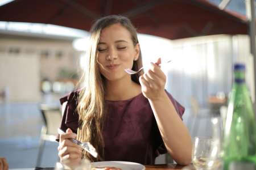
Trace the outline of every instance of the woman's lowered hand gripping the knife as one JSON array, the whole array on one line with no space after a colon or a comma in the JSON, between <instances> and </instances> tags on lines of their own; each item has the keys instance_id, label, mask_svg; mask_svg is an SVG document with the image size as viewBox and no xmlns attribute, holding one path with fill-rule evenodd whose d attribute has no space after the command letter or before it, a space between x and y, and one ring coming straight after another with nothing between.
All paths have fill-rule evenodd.
<instances>
[{"instance_id":1,"label":"woman's lowered hand gripping the knife","mask_svg":"<svg viewBox=\"0 0 256 170\"><path fill-rule=\"evenodd\" d=\"M71 142L69 138L76 138L76 134L68 128L66 133L60 134L58 146L60 162L68 165L78 165L81 162L82 148Z\"/></svg>"}]
</instances>

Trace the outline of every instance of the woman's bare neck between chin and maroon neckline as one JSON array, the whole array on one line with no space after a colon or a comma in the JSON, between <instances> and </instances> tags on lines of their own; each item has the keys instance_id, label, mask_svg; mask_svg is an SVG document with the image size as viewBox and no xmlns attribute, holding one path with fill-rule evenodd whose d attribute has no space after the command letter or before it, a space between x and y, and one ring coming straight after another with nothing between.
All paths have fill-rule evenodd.
<instances>
[{"instance_id":1,"label":"woman's bare neck between chin and maroon neckline","mask_svg":"<svg viewBox=\"0 0 256 170\"><path fill-rule=\"evenodd\" d=\"M141 86L131 78L106 82L106 100L127 100L141 93Z\"/></svg>"}]
</instances>

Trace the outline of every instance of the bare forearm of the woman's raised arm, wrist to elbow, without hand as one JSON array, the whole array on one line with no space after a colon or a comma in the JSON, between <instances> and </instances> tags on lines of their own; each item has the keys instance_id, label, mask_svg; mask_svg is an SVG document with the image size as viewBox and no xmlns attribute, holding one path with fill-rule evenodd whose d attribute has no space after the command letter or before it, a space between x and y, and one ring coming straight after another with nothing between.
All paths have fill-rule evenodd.
<instances>
[{"instance_id":1,"label":"bare forearm of the woman's raised arm, wrist to elbow, without hand","mask_svg":"<svg viewBox=\"0 0 256 170\"><path fill-rule=\"evenodd\" d=\"M182 165L191 163L191 137L166 92L159 100L148 100L164 144L172 158Z\"/></svg>"}]
</instances>

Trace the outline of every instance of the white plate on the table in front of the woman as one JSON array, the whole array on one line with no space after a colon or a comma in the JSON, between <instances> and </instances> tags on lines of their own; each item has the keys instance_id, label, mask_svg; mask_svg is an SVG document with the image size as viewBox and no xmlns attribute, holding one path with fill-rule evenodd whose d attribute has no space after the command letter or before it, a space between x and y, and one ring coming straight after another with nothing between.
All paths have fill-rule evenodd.
<instances>
[{"instance_id":1,"label":"white plate on the table in front of the woman","mask_svg":"<svg viewBox=\"0 0 256 170\"><path fill-rule=\"evenodd\" d=\"M116 167L122 170L145 170L144 165L134 162L104 161L92 163L94 167Z\"/></svg>"}]
</instances>

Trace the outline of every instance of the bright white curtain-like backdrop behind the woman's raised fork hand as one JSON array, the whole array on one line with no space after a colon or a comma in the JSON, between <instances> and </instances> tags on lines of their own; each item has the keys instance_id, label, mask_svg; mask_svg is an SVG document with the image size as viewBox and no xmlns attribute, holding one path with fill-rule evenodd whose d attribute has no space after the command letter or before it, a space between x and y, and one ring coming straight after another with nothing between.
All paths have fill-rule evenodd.
<instances>
[{"instance_id":1,"label":"bright white curtain-like backdrop behind the woman's raised fork hand","mask_svg":"<svg viewBox=\"0 0 256 170\"><path fill-rule=\"evenodd\" d=\"M162 63L171 60L162 66L167 76L166 90L185 107L185 123L191 116L192 97L200 110L209 109L209 96L222 92L228 97L235 62L245 63L246 83L254 92L248 36L214 35L171 41L140 35L139 41L145 67L158 57Z\"/></svg>"}]
</instances>

